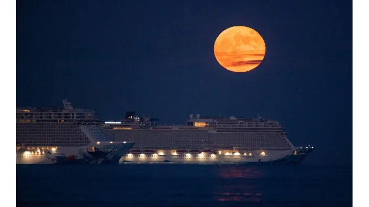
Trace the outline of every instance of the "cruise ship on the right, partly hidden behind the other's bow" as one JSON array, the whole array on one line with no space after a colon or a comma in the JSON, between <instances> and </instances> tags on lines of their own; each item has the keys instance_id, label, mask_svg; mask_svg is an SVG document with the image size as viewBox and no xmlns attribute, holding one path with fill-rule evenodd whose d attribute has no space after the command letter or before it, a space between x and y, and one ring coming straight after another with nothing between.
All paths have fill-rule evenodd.
<instances>
[{"instance_id":1,"label":"cruise ship on the right, partly hidden behind the other's bow","mask_svg":"<svg viewBox=\"0 0 369 207\"><path fill-rule=\"evenodd\" d=\"M114 141L135 145L125 163L244 163L298 165L314 150L294 146L275 120L190 114L184 125L158 125L157 118L127 111L121 121L103 129Z\"/></svg>"}]
</instances>

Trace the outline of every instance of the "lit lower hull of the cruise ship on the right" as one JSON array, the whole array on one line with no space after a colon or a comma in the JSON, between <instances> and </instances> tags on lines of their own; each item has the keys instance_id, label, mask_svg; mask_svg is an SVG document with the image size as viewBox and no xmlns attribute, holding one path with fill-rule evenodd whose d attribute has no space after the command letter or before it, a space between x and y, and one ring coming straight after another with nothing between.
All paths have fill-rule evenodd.
<instances>
[{"instance_id":1,"label":"lit lower hull of the cruise ship on the right","mask_svg":"<svg viewBox=\"0 0 369 207\"><path fill-rule=\"evenodd\" d=\"M250 151L251 155L222 155L222 154L170 154L164 151L162 155L126 154L120 162L123 163L193 163L193 164L226 164L226 163L254 163L254 164L300 164L305 156L313 150L311 147L295 147L287 151L270 151L260 155L259 151Z\"/></svg>"}]
</instances>

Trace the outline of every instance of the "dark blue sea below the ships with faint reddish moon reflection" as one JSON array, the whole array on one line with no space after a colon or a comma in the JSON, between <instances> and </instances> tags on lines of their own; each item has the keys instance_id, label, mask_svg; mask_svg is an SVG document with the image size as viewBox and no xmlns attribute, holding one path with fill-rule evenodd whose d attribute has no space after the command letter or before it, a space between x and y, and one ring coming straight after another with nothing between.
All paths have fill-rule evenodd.
<instances>
[{"instance_id":1,"label":"dark blue sea below the ships with faint reddish moon reflection","mask_svg":"<svg viewBox=\"0 0 369 207\"><path fill-rule=\"evenodd\" d=\"M351 166L16 166L17 206L26 207L351 207L352 200Z\"/></svg>"}]
</instances>

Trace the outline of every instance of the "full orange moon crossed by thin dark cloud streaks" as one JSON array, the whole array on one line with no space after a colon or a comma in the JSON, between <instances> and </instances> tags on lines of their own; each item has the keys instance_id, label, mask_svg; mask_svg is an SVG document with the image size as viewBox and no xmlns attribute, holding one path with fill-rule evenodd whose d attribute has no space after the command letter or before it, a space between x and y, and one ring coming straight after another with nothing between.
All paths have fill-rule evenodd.
<instances>
[{"instance_id":1,"label":"full orange moon crossed by thin dark cloud streaks","mask_svg":"<svg viewBox=\"0 0 369 207\"><path fill-rule=\"evenodd\" d=\"M265 42L254 29L233 26L216 38L214 55L218 63L229 71L251 71L264 59Z\"/></svg>"}]
</instances>

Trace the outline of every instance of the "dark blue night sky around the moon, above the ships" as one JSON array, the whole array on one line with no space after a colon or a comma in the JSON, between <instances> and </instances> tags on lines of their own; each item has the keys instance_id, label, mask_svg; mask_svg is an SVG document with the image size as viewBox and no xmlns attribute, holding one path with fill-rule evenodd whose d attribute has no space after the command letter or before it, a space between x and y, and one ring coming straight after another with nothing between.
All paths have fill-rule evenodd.
<instances>
[{"instance_id":1,"label":"dark blue night sky around the moon, above the ships","mask_svg":"<svg viewBox=\"0 0 369 207\"><path fill-rule=\"evenodd\" d=\"M16 104L125 110L184 123L190 113L277 119L309 164L352 162L352 2L17 0ZM215 60L224 29L266 42L248 73Z\"/></svg>"}]
</instances>

